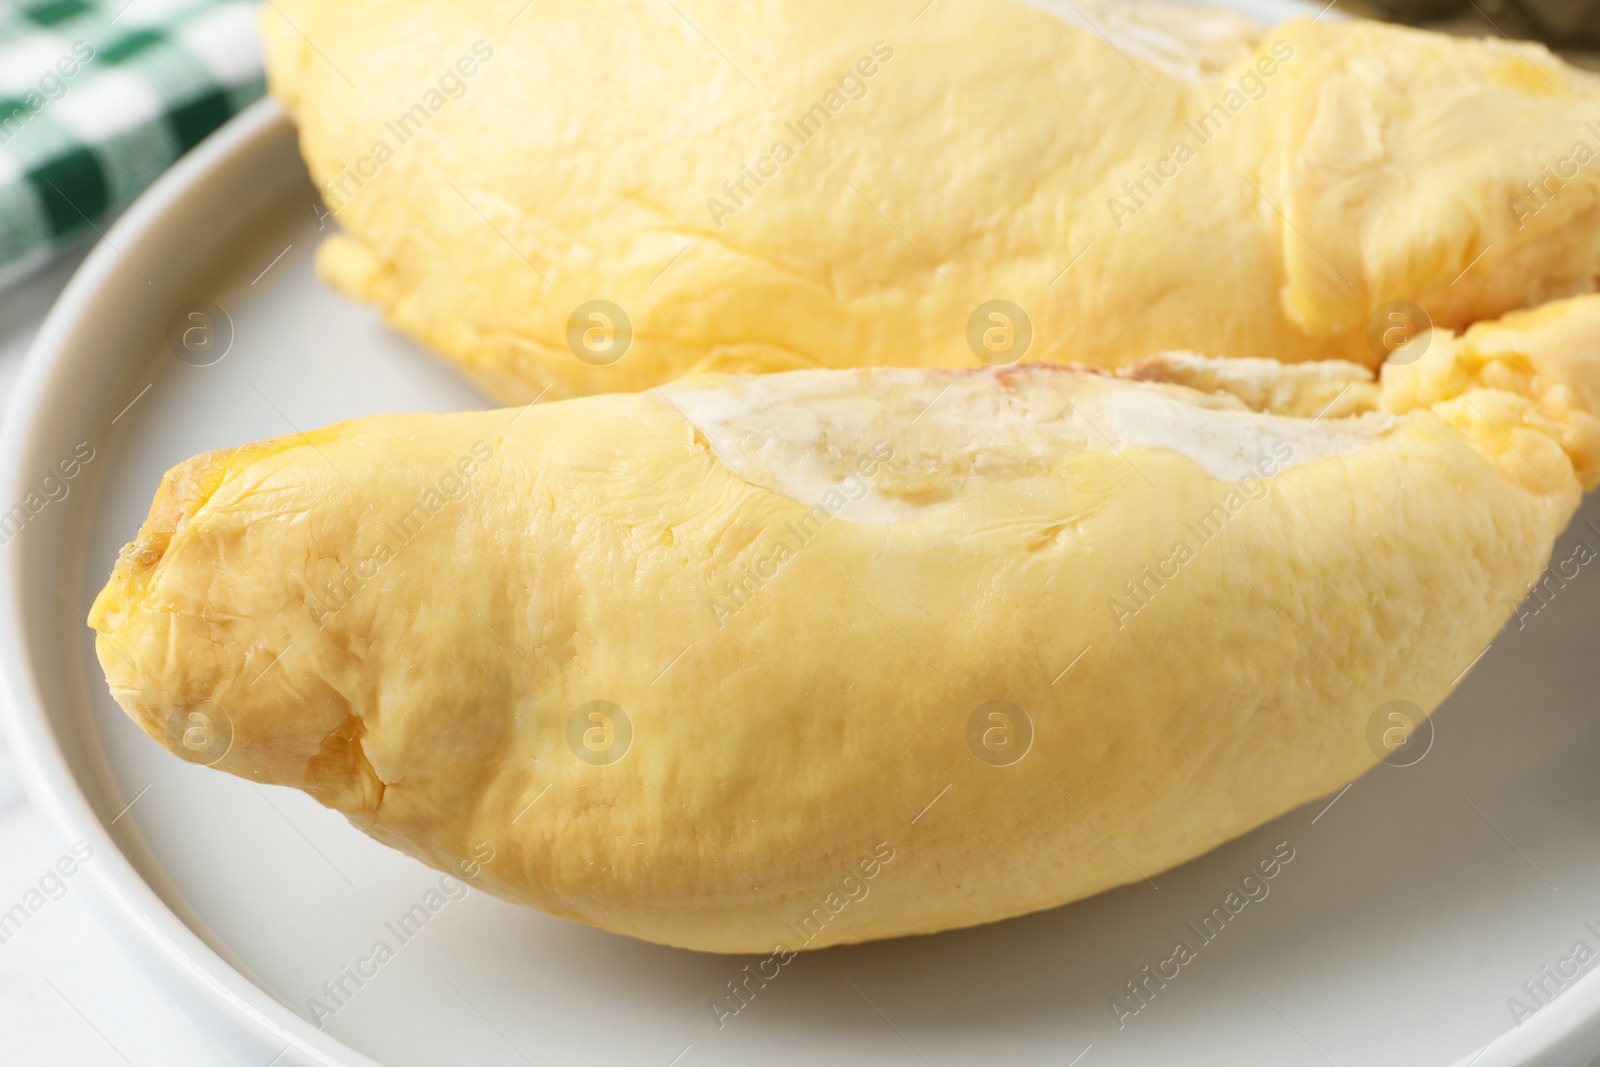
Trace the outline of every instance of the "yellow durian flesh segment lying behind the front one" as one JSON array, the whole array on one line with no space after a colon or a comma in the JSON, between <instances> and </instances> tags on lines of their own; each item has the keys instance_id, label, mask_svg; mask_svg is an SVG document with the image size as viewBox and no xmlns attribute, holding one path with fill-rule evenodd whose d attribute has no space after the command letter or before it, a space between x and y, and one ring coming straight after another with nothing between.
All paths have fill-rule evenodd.
<instances>
[{"instance_id":1,"label":"yellow durian flesh segment lying behind the front one","mask_svg":"<svg viewBox=\"0 0 1600 1067\"><path fill-rule=\"evenodd\" d=\"M1030 360L1371 366L1387 301L1464 330L1600 275L1600 78L1533 43L1091 0L277 0L262 27L342 229L325 274L504 402L970 366L997 299ZM590 301L632 326L614 365L573 357Z\"/></svg>"}]
</instances>

